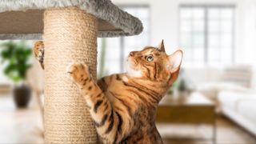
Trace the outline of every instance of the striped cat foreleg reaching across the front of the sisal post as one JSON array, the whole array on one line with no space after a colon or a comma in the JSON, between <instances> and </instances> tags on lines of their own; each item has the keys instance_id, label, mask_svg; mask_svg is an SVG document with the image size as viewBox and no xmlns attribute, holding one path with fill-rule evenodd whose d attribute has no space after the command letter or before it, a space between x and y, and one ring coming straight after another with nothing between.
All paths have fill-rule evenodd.
<instances>
[{"instance_id":1,"label":"striped cat foreleg reaching across the front of the sisal post","mask_svg":"<svg viewBox=\"0 0 256 144\"><path fill-rule=\"evenodd\" d=\"M82 96L89 107L96 130L104 143L116 143L120 140L118 127L122 118L114 111L110 101L100 87L91 78L86 64L76 63L69 67L68 73L82 91Z\"/></svg>"}]
</instances>

